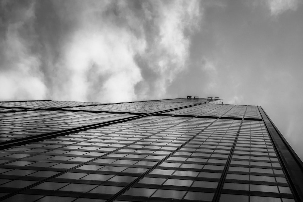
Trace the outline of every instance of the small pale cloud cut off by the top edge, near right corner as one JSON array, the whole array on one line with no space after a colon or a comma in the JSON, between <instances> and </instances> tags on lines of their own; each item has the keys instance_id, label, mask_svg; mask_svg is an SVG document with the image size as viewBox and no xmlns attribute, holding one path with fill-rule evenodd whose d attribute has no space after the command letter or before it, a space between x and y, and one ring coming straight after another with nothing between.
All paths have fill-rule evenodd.
<instances>
[{"instance_id":1,"label":"small pale cloud cut off by the top edge, near right corner","mask_svg":"<svg viewBox=\"0 0 303 202\"><path fill-rule=\"evenodd\" d=\"M297 10L299 0L268 0L271 15L277 16L287 10Z\"/></svg>"}]
</instances>

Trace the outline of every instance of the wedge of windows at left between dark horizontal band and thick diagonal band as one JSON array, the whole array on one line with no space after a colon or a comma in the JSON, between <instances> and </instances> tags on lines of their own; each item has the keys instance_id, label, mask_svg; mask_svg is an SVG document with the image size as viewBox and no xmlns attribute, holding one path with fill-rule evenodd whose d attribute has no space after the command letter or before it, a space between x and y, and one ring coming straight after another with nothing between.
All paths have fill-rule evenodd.
<instances>
[{"instance_id":1,"label":"wedge of windows at left between dark horizontal band and thick diagonal band","mask_svg":"<svg viewBox=\"0 0 303 202\"><path fill-rule=\"evenodd\" d=\"M1 114L0 141L131 117L130 114L26 111Z\"/></svg>"}]
</instances>

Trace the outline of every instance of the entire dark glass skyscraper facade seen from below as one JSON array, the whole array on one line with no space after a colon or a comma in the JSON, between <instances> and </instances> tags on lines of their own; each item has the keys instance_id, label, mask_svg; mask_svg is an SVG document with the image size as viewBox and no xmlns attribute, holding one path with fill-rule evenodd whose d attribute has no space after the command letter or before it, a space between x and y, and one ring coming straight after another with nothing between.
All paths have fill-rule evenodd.
<instances>
[{"instance_id":1,"label":"entire dark glass skyscraper facade seen from below","mask_svg":"<svg viewBox=\"0 0 303 202\"><path fill-rule=\"evenodd\" d=\"M303 201L260 106L219 98L0 102L1 201Z\"/></svg>"}]
</instances>

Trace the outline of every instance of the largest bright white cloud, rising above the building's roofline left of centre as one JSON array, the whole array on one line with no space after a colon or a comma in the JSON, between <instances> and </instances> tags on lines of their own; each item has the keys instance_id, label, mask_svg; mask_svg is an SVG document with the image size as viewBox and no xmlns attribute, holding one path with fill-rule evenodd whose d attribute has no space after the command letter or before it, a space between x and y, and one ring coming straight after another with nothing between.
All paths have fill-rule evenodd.
<instances>
[{"instance_id":1,"label":"largest bright white cloud, rising above the building's roofline left of centre","mask_svg":"<svg viewBox=\"0 0 303 202\"><path fill-rule=\"evenodd\" d=\"M64 83L63 88L54 88L57 99L109 102L136 98L133 87L142 77L133 57L144 51L145 41L126 26L112 25L111 17L97 24L94 16L98 14L102 11L92 8L87 15L80 15L84 19L78 20L83 22L78 22L79 28L62 49L55 78Z\"/></svg>"}]
</instances>

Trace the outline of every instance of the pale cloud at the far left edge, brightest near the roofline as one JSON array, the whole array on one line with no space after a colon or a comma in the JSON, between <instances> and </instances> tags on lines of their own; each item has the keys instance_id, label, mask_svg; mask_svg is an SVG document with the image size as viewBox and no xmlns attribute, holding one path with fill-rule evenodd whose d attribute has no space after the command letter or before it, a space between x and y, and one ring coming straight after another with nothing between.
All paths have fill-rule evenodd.
<instances>
[{"instance_id":1,"label":"pale cloud at the far left edge, brightest near the roofline","mask_svg":"<svg viewBox=\"0 0 303 202\"><path fill-rule=\"evenodd\" d=\"M12 5L3 1L0 13L1 100L42 99L46 95L39 55L33 53L35 4Z\"/></svg>"}]
</instances>

